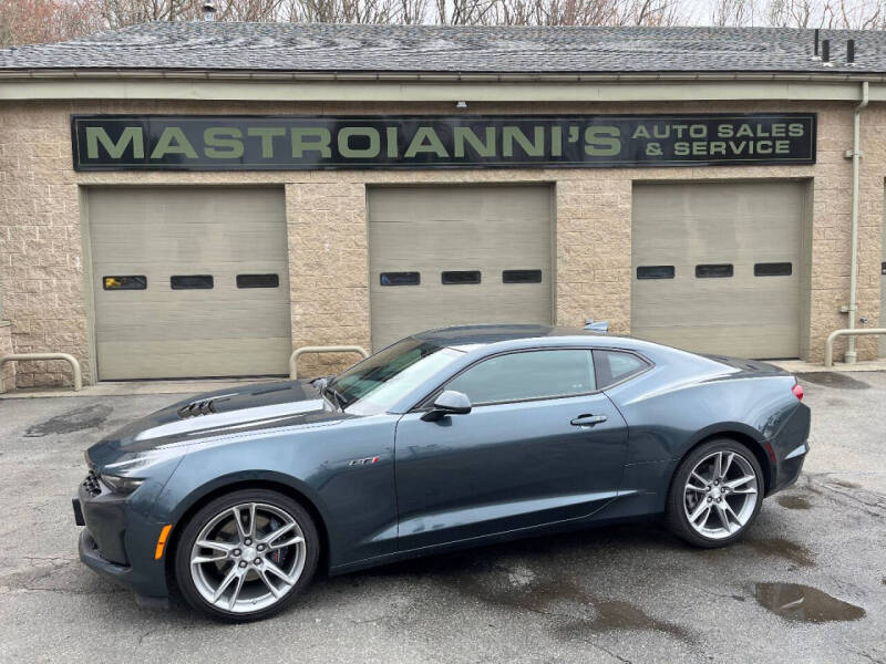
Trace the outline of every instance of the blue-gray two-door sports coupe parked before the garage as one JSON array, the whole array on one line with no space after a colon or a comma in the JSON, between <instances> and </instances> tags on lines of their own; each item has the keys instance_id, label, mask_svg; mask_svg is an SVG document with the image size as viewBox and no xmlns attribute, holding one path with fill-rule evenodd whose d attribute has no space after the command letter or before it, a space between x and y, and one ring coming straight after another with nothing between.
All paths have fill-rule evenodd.
<instances>
[{"instance_id":1,"label":"blue-gray two-door sports coupe parked before the garage","mask_svg":"<svg viewBox=\"0 0 886 664\"><path fill-rule=\"evenodd\" d=\"M223 620L271 615L332 574L661 515L697 547L793 483L794 377L538 325L410 336L337 375L203 395L86 452L90 568Z\"/></svg>"}]
</instances>

